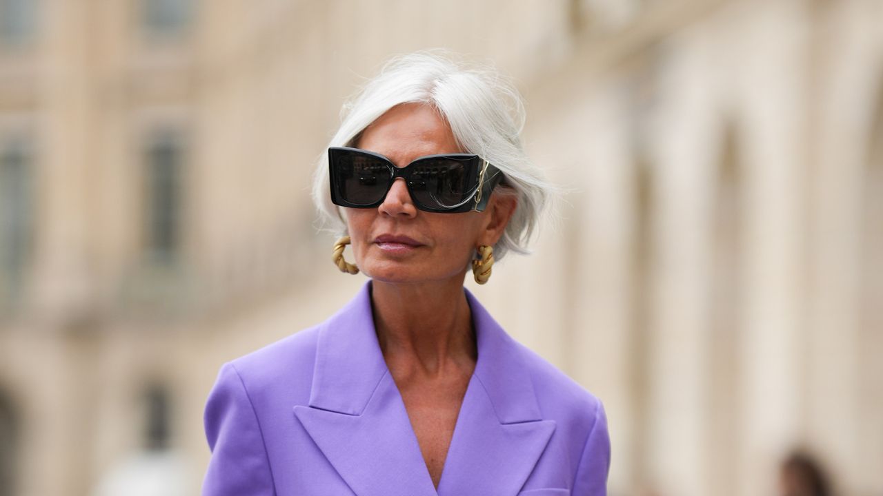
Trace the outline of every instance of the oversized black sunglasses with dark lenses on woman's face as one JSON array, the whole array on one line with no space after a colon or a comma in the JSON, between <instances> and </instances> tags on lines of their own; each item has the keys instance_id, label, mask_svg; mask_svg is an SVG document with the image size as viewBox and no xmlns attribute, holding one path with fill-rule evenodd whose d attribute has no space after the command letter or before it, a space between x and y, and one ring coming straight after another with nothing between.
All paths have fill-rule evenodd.
<instances>
[{"instance_id":1,"label":"oversized black sunglasses with dark lenses on woman's face","mask_svg":"<svg viewBox=\"0 0 883 496\"><path fill-rule=\"evenodd\" d=\"M483 211L503 177L479 155L426 155L396 167L381 154L350 147L329 147L328 169L335 205L378 207L396 178L403 177L415 207L450 214Z\"/></svg>"}]
</instances>

